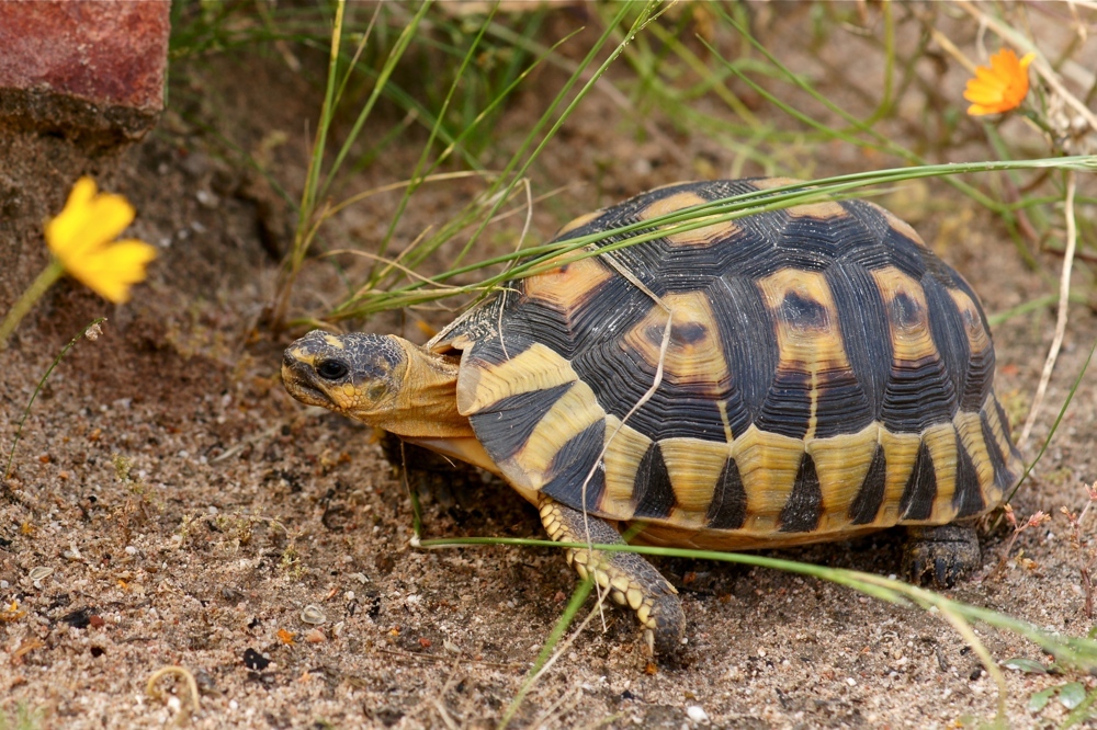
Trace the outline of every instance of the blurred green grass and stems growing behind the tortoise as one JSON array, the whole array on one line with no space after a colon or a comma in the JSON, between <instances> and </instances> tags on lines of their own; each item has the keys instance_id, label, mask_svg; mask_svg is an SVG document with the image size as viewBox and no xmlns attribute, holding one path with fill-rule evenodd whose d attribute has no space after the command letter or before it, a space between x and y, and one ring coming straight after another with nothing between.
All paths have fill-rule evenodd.
<instances>
[{"instance_id":1,"label":"blurred green grass and stems growing behind the tortoise","mask_svg":"<svg viewBox=\"0 0 1097 730\"><path fill-rule=\"evenodd\" d=\"M698 178L817 178L812 150L819 146L846 150L839 153L848 158L844 171L853 171L985 161L980 152L986 149L994 151L989 159L1006 161L1088 155L1097 145L1097 117L1087 106L1097 83L1073 58L1085 47L1089 21L1073 4L807 3L795 12L811 15L814 32L796 58L768 48L766 32L778 20L771 5L336 2L329 12L201 2L179 3L173 12L185 28L173 36L174 57L261 44L324 89L302 190L291 194L292 185L273 181L297 220L268 312L276 328L361 326L378 311L475 295L489 274L529 253L516 249L534 248L538 232L528 225L534 198L539 212L566 220L558 202L540 198L558 197L568 181L546 186L538 180L553 176L539 171L538 156L562 128L566 134L568 115L591 93L626 111L632 127L615 134L651 140L661 156L686 160ZM1047 31L1060 20L1070 22L1041 48L1032 28ZM961 46L970 43L952 39L975 34L966 53ZM842 43L856 43L858 54L879 62L839 65L832 56ZM308 49L325 50L323 70L303 64ZM952 69L974 76L980 65L993 67L992 57L1006 57L995 54L1011 54L1015 70L1024 61L1016 77L1027 93L989 116L969 116L942 80ZM814 70L804 71L805 65ZM525 133L500 134L500 115L520 105L533 107ZM408 138L419 140L420 152L400 180L348 189L357 172L383 164L395 141ZM643 162L635 161L643 173L637 183L657 179ZM946 182L1002 221L1027 265L1043 269L1041 250L1067 248L1066 179L1040 169ZM417 225L428 183L459 185L472 199L440 224ZM466 192L470 185L474 192ZM925 184L911 184L873 194L898 201L901 215L925 218L940 206L926 192ZM395 201L380 235L348 236L354 206L373 196ZM614 199L601 191L592 197ZM1092 194L1078 192L1075 203L1092 206ZM1083 251L1097 243L1090 219L1078 224ZM485 242L489 227L495 235ZM303 267L318 262L335 267L343 293L326 307L302 309L293 304L295 283ZM1087 286L1079 290L1088 292L1093 274L1088 263L1081 269ZM1049 292L1027 304L1058 298Z\"/></svg>"}]
</instances>

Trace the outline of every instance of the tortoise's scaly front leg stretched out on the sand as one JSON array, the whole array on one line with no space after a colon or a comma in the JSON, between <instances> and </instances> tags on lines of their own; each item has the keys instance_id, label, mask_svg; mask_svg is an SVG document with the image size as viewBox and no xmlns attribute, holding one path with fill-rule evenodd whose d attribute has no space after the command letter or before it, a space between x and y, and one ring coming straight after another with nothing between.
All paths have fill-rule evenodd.
<instances>
[{"instance_id":1,"label":"tortoise's scaly front leg stretched out on the sand","mask_svg":"<svg viewBox=\"0 0 1097 730\"><path fill-rule=\"evenodd\" d=\"M548 537L557 543L623 543L621 535L606 521L587 515L585 522L581 512L551 497L541 494L538 507ZM568 548L565 557L581 578L592 573L598 585L608 590L617 604L636 613L649 649L672 655L681 647L686 616L678 591L642 556Z\"/></svg>"}]
</instances>

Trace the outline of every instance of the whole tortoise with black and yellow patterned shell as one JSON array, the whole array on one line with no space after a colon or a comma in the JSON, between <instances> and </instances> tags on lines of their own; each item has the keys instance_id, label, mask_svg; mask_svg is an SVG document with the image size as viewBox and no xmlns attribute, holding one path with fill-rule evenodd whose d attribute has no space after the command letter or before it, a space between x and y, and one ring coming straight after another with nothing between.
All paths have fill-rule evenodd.
<instances>
[{"instance_id":1,"label":"whole tortoise with black and yellow patterned shell","mask_svg":"<svg viewBox=\"0 0 1097 730\"><path fill-rule=\"evenodd\" d=\"M788 179L679 183L581 216L562 242ZM971 286L860 199L795 205L562 253L426 345L316 330L282 378L324 406L502 477L554 540L740 550L906 525L909 574L980 564L974 518L1020 455ZM566 558L635 612L649 650L685 636L640 555Z\"/></svg>"}]
</instances>

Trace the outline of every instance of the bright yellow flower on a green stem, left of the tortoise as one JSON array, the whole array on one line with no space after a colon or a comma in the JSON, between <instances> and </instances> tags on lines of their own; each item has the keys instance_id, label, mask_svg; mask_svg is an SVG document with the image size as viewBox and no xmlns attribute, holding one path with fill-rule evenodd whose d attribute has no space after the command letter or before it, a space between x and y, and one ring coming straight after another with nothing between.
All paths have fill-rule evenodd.
<instances>
[{"instance_id":1,"label":"bright yellow flower on a green stem, left of the tortoise","mask_svg":"<svg viewBox=\"0 0 1097 730\"><path fill-rule=\"evenodd\" d=\"M46 224L46 243L69 274L105 299L129 300L129 287L145 281L145 266L156 249L144 241L115 241L134 219L121 195L99 193L95 181L81 178L68 203Z\"/></svg>"}]
</instances>

